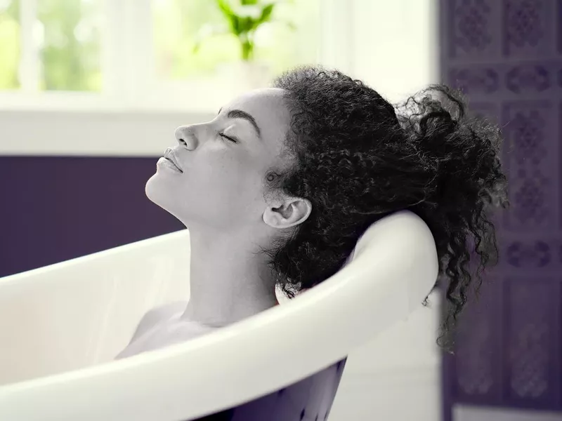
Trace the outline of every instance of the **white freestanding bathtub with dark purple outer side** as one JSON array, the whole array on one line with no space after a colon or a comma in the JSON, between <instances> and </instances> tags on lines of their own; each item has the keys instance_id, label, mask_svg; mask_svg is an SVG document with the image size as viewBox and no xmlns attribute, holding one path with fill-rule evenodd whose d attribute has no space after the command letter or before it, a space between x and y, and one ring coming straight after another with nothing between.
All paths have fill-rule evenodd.
<instances>
[{"instance_id":1,"label":"white freestanding bathtub with dark purple outer side","mask_svg":"<svg viewBox=\"0 0 562 421\"><path fill-rule=\"evenodd\" d=\"M187 300L187 230L0 279L0 420L322 420L352 349L421 305L437 275L410 212L281 306L113 361L141 316Z\"/></svg>"}]
</instances>

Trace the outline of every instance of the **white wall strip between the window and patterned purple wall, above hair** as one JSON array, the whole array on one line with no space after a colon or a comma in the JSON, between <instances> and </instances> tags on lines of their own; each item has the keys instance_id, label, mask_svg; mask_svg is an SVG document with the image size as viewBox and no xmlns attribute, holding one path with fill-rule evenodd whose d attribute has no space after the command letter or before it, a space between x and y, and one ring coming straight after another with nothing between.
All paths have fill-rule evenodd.
<instances>
[{"instance_id":1,"label":"white wall strip between the window and patterned purple wall, above hair","mask_svg":"<svg viewBox=\"0 0 562 421\"><path fill-rule=\"evenodd\" d=\"M391 102L439 81L436 0L359 0L358 4L355 76Z\"/></svg>"}]
</instances>

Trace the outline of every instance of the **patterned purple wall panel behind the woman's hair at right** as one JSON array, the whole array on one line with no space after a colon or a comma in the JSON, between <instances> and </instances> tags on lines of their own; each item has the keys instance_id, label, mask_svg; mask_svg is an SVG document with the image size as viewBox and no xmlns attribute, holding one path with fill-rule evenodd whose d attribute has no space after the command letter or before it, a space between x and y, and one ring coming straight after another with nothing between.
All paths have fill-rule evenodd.
<instances>
[{"instance_id":1,"label":"patterned purple wall panel behind the woman's hair at right","mask_svg":"<svg viewBox=\"0 0 562 421\"><path fill-rule=\"evenodd\" d=\"M511 200L501 265L444 356L444 418L562 410L562 0L442 0L440 15L443 80L502 126Z\"/></svg>"}]
</instances>

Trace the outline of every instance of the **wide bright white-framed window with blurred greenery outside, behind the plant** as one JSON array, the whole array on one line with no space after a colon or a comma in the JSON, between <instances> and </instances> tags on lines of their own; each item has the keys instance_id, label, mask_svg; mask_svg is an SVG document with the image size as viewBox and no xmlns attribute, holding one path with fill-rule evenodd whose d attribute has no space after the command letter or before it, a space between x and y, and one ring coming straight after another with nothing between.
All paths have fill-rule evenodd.
<instances>
[{"instance_id":1,"label":"wide bright white-framed window with blurred greenery outside, behind the plant","mask_svg":"<svg viewBox=\"0 0 562 421\"><path fill-rule=\"evenodd\" d=\"M216 111L321 62L320 1L275 2L248 64L219 0L0 0L0 107Z\"/></svg>"}]
</instances>

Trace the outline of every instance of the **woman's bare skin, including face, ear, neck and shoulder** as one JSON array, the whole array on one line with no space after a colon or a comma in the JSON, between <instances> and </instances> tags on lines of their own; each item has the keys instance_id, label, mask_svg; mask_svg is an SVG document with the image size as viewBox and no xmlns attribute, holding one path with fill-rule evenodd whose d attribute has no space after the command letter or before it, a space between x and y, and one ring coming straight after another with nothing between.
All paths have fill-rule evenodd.
<instances>
[{"instance_id":1,"label":"woman's bare skin, including face, ear, neck and shoulder","mask_svg":"<svg viewBox=\"0 0 562 421\"><path fill-rule=\"evenodd\" d=\"M271 168L285 168L290 114L280 89L236 98L207 123L181 126L146 194L190 230L190 300L145 314L118 358L189 340L277 305L259 250L311 213L310 201L266 194ZM174 163L172 163L174 161Z\"/></svg>"}]
</instances>

